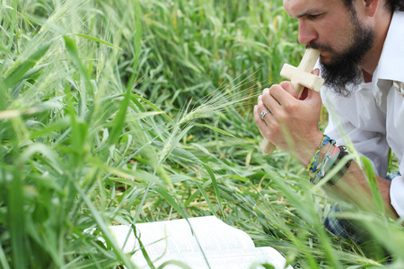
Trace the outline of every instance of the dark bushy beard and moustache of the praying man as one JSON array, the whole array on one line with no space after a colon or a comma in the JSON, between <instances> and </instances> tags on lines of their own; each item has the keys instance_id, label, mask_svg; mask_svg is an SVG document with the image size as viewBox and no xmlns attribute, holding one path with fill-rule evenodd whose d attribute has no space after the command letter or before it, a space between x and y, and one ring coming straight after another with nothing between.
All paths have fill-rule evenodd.
<instances>
[{"instance_id":1,"label":"dark bushy beard and moustache of the praying man","mask_svg":"<svg viewBox=\"0 0 404 269\"><path fill-rule=\"evenodd\" d=\"M359 63L364 59L374 43L374 30L366 28L356 16L356 11L352 11L353 42L343 52L338 53L328 44L315 43L307 44L307 48L316 48L329 51L331 60L329 63L321 62L321 77L324 84L335 91L338 95L348 96L355 86L363 82L363 71Z\"/></svg>"}]
</instances>

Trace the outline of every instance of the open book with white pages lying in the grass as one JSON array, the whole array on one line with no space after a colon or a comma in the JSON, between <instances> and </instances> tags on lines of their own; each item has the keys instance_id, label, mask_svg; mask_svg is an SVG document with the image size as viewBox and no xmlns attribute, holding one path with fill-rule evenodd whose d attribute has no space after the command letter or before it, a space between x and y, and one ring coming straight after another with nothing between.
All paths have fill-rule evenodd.
<instances>
[{"instance_id":1,"label":"open book with white pages lying in the grass","mask_svg":"<svg viewBox=\"0 0 404 269\"><path fill-rule=\"evenodd\" d=\"M111 226L110 230L125 253L136 251L131 260L140 268L150 266L139 250L138 239L156 268L167 261L180 261L190 268L263 268L261 264L285 268L285 257L277 250L255 247L246 232L215 216L189 218L189 222L138 223L136 233L127 225ZM175 262L168 264L164 268L184 268Z\"/></svg>"}]
</instances>

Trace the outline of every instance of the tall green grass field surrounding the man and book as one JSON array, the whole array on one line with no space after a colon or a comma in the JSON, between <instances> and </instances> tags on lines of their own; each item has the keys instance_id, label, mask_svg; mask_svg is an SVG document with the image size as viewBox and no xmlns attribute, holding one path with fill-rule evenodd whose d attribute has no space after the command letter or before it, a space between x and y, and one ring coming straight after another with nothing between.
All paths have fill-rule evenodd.
<instances>
[{"instance_id":1,"label":"tall green grass field surrounding the man and book","mask_svg":"<svg viewBox=\"0 0 404 269\"><path fill-rule=\"evenodd\" d=\"M259 152L252 107L303 52L282 1L7 0L0 13L0 268L136 268L109 225L212 214L294 268L404 267L401 222L353 211L374 246L335 238L322 226L334 201L287 153Z\"/></svg>"}]
</instances>

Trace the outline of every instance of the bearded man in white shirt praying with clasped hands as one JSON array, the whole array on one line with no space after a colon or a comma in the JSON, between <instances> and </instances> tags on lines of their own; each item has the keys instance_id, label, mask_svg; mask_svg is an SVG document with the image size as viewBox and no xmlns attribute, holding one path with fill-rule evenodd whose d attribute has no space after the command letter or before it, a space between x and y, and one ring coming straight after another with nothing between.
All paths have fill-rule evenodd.
<instances>
[{"instance_id":1,"label":"bearded man in white shirt praying with clasped hands","mask_svg":"<svg viewBox=\"0 0 404 269\"><path fill-rule=\"evenodd\" d=\"M321 94L306 89L300 99L290 82L265 89L254 108L260 133L307 166L314 183L344 160L342 145L352 143L372 162L387 211L404 217L404 178L385 179L389 148L404 175L403 1L285 0L284 7L299 22L299 42L321 50L325 87ZM327 136L318 127L321 100L330 115ZM324 189L375 211L356 161L348 161Z\"/></svg>"}]
</instances>

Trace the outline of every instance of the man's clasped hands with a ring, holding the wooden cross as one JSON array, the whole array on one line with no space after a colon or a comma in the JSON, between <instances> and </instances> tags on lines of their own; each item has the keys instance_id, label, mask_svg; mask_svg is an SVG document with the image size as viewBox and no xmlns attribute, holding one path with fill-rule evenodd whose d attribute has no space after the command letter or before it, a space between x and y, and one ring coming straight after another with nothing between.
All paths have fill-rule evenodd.
<instances>
[{"instance_id":1,"label":"man's clasped hands with a ring, holding the wooden cross","mask_svg":"<svg viewBox=\"0 0 404 269\"><path fill-rule=\"evenodd\" d=\"M318 74L318 70L314 74ZM260 113L267 108L270 113L262 120ZM254 118L262 136L307 165L323 137L319 129L320 111L319 92L304 89L297 99L292 83L281 82L262 91L254 108Z\"/></svg>"}]
</instances>

